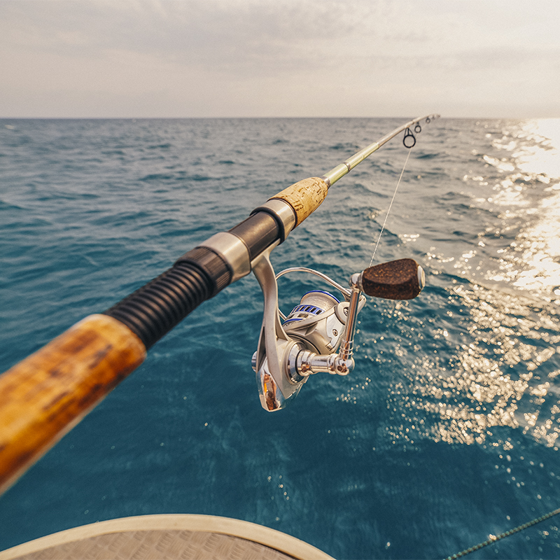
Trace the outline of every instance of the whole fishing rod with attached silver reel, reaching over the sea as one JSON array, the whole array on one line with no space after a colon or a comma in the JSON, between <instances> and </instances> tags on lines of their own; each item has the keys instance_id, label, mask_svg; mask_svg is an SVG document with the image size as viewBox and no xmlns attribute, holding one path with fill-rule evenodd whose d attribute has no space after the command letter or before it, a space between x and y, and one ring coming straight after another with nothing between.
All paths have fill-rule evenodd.
<instances>
[{"instance_id":1,"label":"whole fishing rod with attached silver reel, reaching over the sea","mask_svg":"<svg viewBox=\"0 0 560 560\"><path fill-rule=\"evenodd\" d=\"M253 356L262 406L269 411L283 408L310 374L349 373L356 315L365 301L361 292L393 299L415 297L423 286L421 268L410 259L370 267L352 276L349 290L340 286L344 302L326 292L306 294L303 307L297 306L282 325L270 252L353 167L403 130L405 146L412 147L411 127L420 132L421 121L437 117L410 120L322 177L303 179L282 190L246 220L213 235L139 290L110 309L85 317L2 374L0 492L139 367L155 342L202 302L251 271L265 295L261 336Z\"/></svg>"}]
</instances>

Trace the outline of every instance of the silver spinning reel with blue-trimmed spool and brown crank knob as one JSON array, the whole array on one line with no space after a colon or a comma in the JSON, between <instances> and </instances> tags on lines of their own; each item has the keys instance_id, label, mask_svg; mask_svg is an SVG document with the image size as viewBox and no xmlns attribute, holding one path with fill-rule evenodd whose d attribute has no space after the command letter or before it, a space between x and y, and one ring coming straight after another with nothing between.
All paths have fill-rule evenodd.
<instances>
[{"instance_id":1,"label":"silver spinning reel with blue-trimmed spool and brown crank knob","mask_svg":"<svg viewBox=\"0 0 560 560\"><path fill-rule=\"evenodd\" d=\"M273 412L295 398L311 374L347 375L354 367L353 337L365 295L388 300L412 300L424 286L424 272L414 260L384 262L356 272L344 288L316 270L294 267L274 274L270 249L253 265L265 296L265 311L253 370L260 404ZM323 290L305 293L288 316L278 308L280 276L307 272L319 276L342 294L342 301Z\"/></svg>"}]
</instances>

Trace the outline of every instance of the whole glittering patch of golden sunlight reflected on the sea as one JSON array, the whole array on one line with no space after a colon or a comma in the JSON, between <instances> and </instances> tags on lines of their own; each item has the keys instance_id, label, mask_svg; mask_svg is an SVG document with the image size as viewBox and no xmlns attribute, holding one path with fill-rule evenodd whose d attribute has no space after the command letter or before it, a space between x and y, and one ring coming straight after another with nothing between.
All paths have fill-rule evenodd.
<instances>
[{"instance_id":1,"label":"whole glittering patch of golden sunlight reflected on the sea","mask_svg":"<svg viewBox=\"0 0 560 560\"><path fill-rule=\"evenodd\" d=\"M414 425L394 426L393 437L507 450L514 442L498 434L508 427L556 448L560 119L505 122L485 136L482 169L463 179L472 208L484 210L472 225L477 241L458 255L432 255L468 282L447 288L447 317L426 325L436 349L393 388L395 412L402 400Z\"/></svg>"}]
</instances>

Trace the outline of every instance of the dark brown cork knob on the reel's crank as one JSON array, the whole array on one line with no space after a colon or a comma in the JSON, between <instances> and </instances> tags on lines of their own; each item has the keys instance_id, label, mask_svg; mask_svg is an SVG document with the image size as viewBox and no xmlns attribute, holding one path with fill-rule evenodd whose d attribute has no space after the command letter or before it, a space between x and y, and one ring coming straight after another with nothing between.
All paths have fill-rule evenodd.
<instances>
[{"instance_id":1,"label":"dark brown cork knob on the reel's crank","mask_svg":"<svg viewBox=\"0 0 560 560\"><path fill-rule=\"evenodd\" d=\"M385 300L412 300L425 286L423 268L412 258L381 262L360 274L360 288Z\"/></svg>"}]
</instances>

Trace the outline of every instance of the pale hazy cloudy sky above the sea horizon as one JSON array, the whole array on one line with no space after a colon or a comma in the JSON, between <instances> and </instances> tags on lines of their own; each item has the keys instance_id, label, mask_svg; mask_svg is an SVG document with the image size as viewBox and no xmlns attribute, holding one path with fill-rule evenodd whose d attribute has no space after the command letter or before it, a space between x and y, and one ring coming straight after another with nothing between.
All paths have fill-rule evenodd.
<instances>
[{"instance_id":1,"label":"pale hazy cloudy sky above the sea horizon","mask_svg":"<svg viewBox=\"0 0 560 560\"><path fill-rule=\"evenodd\" d=\"M0 0L0 118L559 118L559 29L559 0Z\"/></svg>"}]
</instances>

